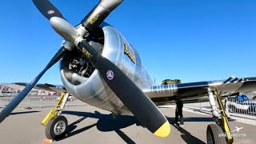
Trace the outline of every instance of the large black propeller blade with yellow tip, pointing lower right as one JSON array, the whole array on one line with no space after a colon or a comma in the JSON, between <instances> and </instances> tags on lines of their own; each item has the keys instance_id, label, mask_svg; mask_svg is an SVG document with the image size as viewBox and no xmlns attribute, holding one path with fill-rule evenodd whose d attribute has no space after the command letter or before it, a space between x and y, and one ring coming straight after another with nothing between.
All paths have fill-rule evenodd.
<instances>
[{"instance_id":1,"label":"large black propeller blade with yellow tip, pointing lower right","mask_svg":"<svg viewBox=\"0 0 256 144\"><path fill-rule=\"evenodd\" d=\"M99 71L106 84L114 91L114 94L142 122L143 126L146 126L148 130L159 137L166 137L170 134L170 123L165 115L118 66L102 57L85 40L79 42L78 47Z\"/></svg>"}]
</instances>

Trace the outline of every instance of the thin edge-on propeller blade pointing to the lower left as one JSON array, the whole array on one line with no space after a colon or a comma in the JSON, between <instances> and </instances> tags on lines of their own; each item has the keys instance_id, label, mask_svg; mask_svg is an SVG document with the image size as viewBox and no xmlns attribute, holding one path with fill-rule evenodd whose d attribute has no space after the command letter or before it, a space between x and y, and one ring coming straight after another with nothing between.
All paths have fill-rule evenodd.
<instances>
[{"instance_id":1,"label":"thin edge-on propeller blade pointing to the lower left","mask_svg":"<svg viewBox=\"0 0 256 144\"><path fill-rule=\"evenodd\" d=\"M26 95L30 92L30 90L34 87L34 85L39 81L43 74L45 74L46 70L50 69L56 62L58 62L63 56L66 54L66 49L62 46L60 50L54 55L54 57L50 60L47 66L42 70L40 74L34 80L32 80L16 97L4 107L4 109L0 112L0 123L10 115L12 110L15 109L16 106L22 99L26 97Z\"/></svg>"}]
</instances>

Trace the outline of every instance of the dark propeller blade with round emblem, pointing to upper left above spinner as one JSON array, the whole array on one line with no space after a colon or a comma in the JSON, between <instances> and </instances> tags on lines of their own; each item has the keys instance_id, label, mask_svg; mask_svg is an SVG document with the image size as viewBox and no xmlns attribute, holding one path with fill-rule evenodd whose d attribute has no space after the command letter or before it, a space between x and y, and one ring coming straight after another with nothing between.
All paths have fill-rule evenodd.
<instances>
[{"instance_id":1,"label":"dark propeller blade with round emblem, pointing to upper left above spinner","mask_svg":"<svg viewBox=\"0 0 256 144\"><path fill-rule=\"evenodd\" d=\"M50 20L52 17L63 18L61 12L48 0L33 0L34 5L37 6L38 10Z\"/></svg>"}]
</instances>

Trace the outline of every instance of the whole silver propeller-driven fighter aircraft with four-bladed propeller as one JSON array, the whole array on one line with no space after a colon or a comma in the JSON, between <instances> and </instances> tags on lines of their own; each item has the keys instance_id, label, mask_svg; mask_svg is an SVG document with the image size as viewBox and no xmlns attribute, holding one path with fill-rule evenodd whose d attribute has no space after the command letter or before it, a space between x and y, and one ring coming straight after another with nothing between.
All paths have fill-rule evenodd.
<instances>
[{"instance_id":1,"label":"whole silver propeller-driven fighter aircraft with four-bladed propeller","mask_svg":"<svg viewBox=\"0 0 256 144\"><path fill-rule=\"evenodd\" d=\"M22 102L46 70L58 61L66 90L59 99L58 113L51 111L42 122L46 126L46 137L51 139L66 132L67 120L61 114L70 94L113 114L133 114L150 132L166 137L170 134L170 123L158 106L177 100L210 101L214 117L221 119L222 114L218 112L214 96L223 98L256 90L256 78L234 77L219 81L153 86L154 82L144 69L134 46L114 26L103 22L122 0L101 0L78 26L71 26L48 0L33 2L50 21L53 29L64 38L64 42L45 69L1 111L0 122ZM215 90L219 93L214 93ZM221 122L218 127L222 127L223 122L218 122ZM209 129L213 133L215 126ZM207 141L220 141L214 139L212 133L209 133L209 138L207 136Z\"/></svg>"}]
</instances>

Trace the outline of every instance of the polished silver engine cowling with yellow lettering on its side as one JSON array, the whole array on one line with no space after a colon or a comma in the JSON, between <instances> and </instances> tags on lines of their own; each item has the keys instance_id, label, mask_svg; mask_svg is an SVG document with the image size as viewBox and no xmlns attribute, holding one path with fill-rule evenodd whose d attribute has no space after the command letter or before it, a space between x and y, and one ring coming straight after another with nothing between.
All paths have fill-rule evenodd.
<instances>
[{"instance_id":1,"label":"polished silver engine cowling with yellow lettering on its side","mask_svg":"<svg viewBox=\"0 0 256 144\"><path fill-rule=\"evenodd\" d=\"M141 90L152 86L152 78L142 66L137 50L113 26L103 22L101 28L104 33L102 56L118 66ZM116 114L129 114L126 106L104 82L102 77L105 76L94 70L85 82L74 85L66 78L65 71L61 70L63 85L75 98Z\"/></svg>"}]
</instances>

